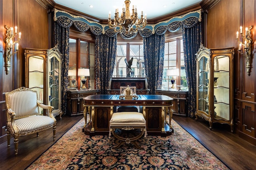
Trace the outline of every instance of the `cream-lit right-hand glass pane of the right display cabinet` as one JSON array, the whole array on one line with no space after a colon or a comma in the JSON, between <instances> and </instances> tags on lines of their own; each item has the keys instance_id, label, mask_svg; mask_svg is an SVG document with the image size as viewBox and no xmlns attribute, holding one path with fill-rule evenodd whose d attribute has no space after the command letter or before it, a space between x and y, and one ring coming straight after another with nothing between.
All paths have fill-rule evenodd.
<instances>
[{"instance_id":1,"label":"cream-lit right-hand glass pane of the right display cabinet","mask_svg":"<svg viewBox=\"0 0 256 170\"><path fill-rule=\"evenodd\" d=\"M217 62L215 62L217 61ZM214 57L214 119L230 120L230 57Z\"/></svg>"}]
</instances>

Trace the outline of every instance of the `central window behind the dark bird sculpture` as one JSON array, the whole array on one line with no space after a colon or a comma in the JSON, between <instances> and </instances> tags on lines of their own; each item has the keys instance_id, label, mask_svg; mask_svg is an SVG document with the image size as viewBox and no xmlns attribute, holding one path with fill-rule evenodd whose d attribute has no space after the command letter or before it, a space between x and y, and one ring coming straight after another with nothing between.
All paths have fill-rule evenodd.
<instances>
[{"instance_id":1,"label":"central window behind the dark bird sculpture","mask_svg":"<svg viewBox=\"0 0 256 170\"><path fill-rule=\"evenodd\" d=\"M130 77L145 77L143 44L120 43L116 49L116 64L113 77L126 77L126 61L133 58Z\"/></svg>"}]
</instances>

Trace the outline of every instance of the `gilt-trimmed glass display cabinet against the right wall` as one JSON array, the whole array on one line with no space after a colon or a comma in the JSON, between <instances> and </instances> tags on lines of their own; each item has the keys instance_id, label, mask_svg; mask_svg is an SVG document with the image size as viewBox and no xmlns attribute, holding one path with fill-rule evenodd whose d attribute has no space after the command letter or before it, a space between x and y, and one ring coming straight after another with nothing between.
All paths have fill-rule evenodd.
<instances>
[{"instance_id":1,"label":"gilt-trimmed glass display cabinet against the right wall","mask_svg":"<svg viewBox=\"0 0 256 170\"><path fill-rule=\"evenodd\" d=\"M234 47L208 49L196 53L196 119L212 124L227 123L233 132L233 57Z\"/></svg>"}]
</instances>

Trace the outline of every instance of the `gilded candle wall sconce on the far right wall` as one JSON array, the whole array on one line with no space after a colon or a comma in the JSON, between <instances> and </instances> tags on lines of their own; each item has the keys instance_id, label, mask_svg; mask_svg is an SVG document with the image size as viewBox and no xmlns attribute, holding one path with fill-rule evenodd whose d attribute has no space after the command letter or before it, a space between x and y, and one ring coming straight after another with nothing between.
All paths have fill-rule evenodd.
<instances>
[{"instance_id":1,"label":"gilded candle wall sconce on the far right wall","mask_svg":"<svg viewBox=\"0 0 256 170\"><path fill-rule=\"evenodd\" d=\"M252 25L246 27L245 35L243 33L243 28L240 26L240 35L244 39L244 44L238 40L238 31L236 32L236 40L239 43L238 52L243 55L246 59L246 72L248 76L250 76L250 68L251 68L251 53L252 53L252 38L251 38L251 29ZM244 52L242 50L242 45L244 46Z\"/></svg>"}]
</instances>

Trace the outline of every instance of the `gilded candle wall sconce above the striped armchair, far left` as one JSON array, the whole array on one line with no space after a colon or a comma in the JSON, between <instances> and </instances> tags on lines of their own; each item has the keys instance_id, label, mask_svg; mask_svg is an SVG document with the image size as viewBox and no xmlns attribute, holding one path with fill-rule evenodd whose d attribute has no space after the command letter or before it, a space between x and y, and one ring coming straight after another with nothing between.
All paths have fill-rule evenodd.
<instances>
[{"instance_id":1,"label":"gilded candle wall sconce above the striped armchair, far left","mask_svg":"<svg viewBox=\"0 0 256 170\"><path fill-rule=\"evenodd\" d=\"M15 36L17 35L17 26L14 27L9 27L8 25L4 25L4 27L7 29L6 30L6 38L5 38L5 61L6 61L6 74L9 73L10 71L10 66L11 66L11 57L15 53L18 52L19 50L19 41L21 37L21 33L19 33L17 41L15 41ZM14 33L13 33L14 32ZM14 41L13 41L14 38ZM16 44L16 45L15 45ZM16 52L14 52L16 46Z\"/></svg>"}]
</instances>

